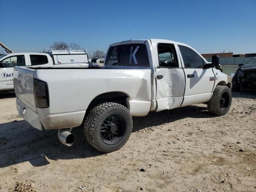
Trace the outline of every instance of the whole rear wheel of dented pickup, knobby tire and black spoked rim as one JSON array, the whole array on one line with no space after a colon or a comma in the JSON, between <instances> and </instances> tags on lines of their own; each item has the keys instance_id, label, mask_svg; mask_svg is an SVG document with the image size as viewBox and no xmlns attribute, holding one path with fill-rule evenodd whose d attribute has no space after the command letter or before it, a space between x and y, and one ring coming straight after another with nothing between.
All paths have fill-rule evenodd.
<instances>
[{"instance_id":1,"label":"whole rear wheel of dented pickup, knobby tire and black spoked rim","mask_svg":"<svg viewBox=\"0 0 256 192\"><path fill-rule=\"evenodd\" d=\"M113 102L94 107L84 123L86 140L104 153L116 151L124 146L131 132L132 116L129 110Z\"/></svg>"}]
</instances>

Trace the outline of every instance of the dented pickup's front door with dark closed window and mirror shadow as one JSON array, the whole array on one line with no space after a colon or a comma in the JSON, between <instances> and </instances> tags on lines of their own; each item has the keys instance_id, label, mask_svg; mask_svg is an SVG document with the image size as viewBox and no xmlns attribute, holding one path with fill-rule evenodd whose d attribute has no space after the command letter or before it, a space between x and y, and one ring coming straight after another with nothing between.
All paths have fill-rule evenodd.
<instances>
[{"instance_id":1,"label":"dented pickup's front door with dark closed window and mirror shadow","mask_svg":"<svg viewBox=\"0 0 256 192\"><path fill-rule=\"evenodd\" d=\"M212 68L204 69L206 61L194 49L178 45L186 78L182 106L207 102L212 94L215 76Z\"/></svg>"}]
</instances>

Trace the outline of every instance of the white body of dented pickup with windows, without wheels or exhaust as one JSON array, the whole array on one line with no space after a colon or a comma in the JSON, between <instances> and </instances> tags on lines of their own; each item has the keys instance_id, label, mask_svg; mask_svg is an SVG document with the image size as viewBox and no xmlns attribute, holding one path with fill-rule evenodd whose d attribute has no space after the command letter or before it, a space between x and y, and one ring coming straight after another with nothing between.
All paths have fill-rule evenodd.
<instances>
[{"instance_id":1,"label":"white body of dented pickup with windows, without wheels or exhaust","mask_svg":"<svg viewBox=\"0 0 256 192\"><path fill-rule=\"evenodd\" d=\"M119 49L128 53L118 58ZM126 59L131 66L115 65L116 60L121 63L119 60ZM200 60L202 67L192 66ZM124 97L132 116L208 102L217 85L228 84L228 76L216 68L203 68L207 63L192 47L171 40L118 42L108 48L102 68L15 67L17 109L33 127L42 130L42 126L80 126L86 110L102 96L111 95L110 100L115 95ZM34 86L38 81L46 85L47 107L36 105Z\"/></svg>"}]
</instances>

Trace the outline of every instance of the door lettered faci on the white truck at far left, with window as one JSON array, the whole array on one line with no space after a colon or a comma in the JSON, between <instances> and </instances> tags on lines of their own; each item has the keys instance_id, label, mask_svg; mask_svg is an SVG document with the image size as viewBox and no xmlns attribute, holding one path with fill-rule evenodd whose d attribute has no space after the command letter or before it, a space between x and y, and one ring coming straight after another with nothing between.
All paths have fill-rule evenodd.
<instances>
[{"instance_id":1,"label":"door lettered faci on the white truck at far left, with window","mask_svg":"<svg viewBox=\"0 0 256 192\"><path fill-rule=\"evenodd\" d=\"M4 58L0 65L0 90L13 89L13 68L26 66L25 55L12 55Z\"/></svg>"}]
</instances>

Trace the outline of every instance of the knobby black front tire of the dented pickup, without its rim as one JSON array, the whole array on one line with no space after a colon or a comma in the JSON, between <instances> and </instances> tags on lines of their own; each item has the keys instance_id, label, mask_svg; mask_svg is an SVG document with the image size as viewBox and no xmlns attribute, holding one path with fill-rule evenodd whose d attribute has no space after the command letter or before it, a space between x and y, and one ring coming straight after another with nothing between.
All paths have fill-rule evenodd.
<instances>
[{"instance_id":1,"label":"knobby black front tire of the dented pickup, without its rim","mask_svg":"<svg viewBox=\"0 0 256 192\"><path fill-rule=\"evenodd\" d=\"M221 108L221 105L220 105L223 94L226 96L228 94L228 97L229 97L228 106L224 110ZM207 107L211 113L222 116L222 115L225 115L230 109L231 102L232 102L232 93L230 88L228 88L227 86L218 85L214 89L212 98L210 99L210 101L207 102Z\"/></svg>"}]
</instances>

